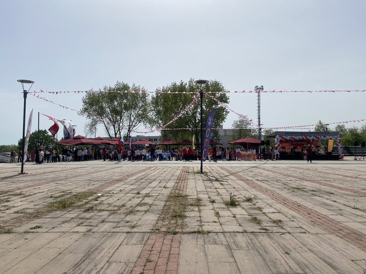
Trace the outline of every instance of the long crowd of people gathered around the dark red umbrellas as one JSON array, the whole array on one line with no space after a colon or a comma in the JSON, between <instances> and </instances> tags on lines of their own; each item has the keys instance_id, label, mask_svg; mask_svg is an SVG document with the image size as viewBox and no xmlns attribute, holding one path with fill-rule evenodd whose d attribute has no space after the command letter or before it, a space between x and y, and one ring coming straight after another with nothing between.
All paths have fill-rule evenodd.
<instances>
[{"instance_id":1,"label":"long crowd of people gathered around the dark red umbrellas","mask_svg":"<svg viewBox=\"0 0 366 274\"><path fill-rule=\"evenodd\" d=\"M21 152L20 155L21 156ZM36 149L32 148L30 152L26 153L27 160L42 163L56 163L60 161L195 161L201 160L200 149L194 149L190 146L183 148L164 149L162 147L144 147L144 148L113 148L113 147L84 147L84 148L64 148L59 151L58 148L48 148L41 145ZM208 149L208 161L262 161L262 160L279 160L280 152L277 148L269 148L266 150L265 146L252 147L250 149L243 149L236 146L236 148L216 147L213 145ZM20 158L20 157L19 157ZM311 160L310 160L311 161Z\"/></svg>"}]
</instances>

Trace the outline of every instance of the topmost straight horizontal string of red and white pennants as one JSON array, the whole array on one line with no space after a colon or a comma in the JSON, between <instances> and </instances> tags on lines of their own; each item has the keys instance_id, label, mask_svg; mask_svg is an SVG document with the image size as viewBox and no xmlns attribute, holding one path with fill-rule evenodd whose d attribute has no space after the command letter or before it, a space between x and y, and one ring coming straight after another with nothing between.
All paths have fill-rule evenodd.
<instances>
[{"instance_id":1,"label":"topmost straight horizontal string of red and white pennants","mask_svg":"<svg viewBox=\"0 0 366 274\"><path fill-rule=\"evenodd\" d=\"M328 93L338 93L338 92L365 92L366 90L268 90L268 91L252 91L252 90L243 90L243 91L209 91L206 93L286 93L286 92L298 92L298 93L313 93L313 92L328 92ZM33 91L28 93L48 93L48 94L65 94L65 93L153 93L153 94L199 94L199 91L191 91L191 92L170 92L170 91L146 91L146 90L126 90L126 91L102 91L102 90L91 90L91 91Z\"/></svg>"}]
</instances>

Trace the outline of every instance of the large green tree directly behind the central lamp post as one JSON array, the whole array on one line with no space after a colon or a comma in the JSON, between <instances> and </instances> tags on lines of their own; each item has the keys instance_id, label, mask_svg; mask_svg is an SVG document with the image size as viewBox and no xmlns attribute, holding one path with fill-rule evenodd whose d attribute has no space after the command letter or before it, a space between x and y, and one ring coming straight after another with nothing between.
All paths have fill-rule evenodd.
<instances>
[{"instance_id":1,"label":"large green tree directly behind the central lamp post","mask_svg":"<svg viewBox=\"0 0 366 274\"><path fill-rule=\"evenodd\" d=\"M180 81L180 83L172 83L166 87L158 88L156 94L152 96L152 121L160 128L161 126L170 122L175 118L193 99L198 96L197 102L190 107L186 113L179 117L176 121L172 122L169 128L184 128L184 130L161 130L161 136L163 138L171 138L176 141L183 140L185 138L192 138L195 134L196 142L199 142L200 138L200 99L198 91L201 89L201 85L194 83L193 79L190 79L187 83ZM224 86L216 80L210 81L208 84L202 86L204 92L219 92L225 91ZM196 94L167 94L165 92L197 92ZM212 94L214 98L223 103L228 103L229 98L225 93ZM209 112L216 108L216 113L213 121L213 128L217 128L223 123L229 113L229 111L217 103L215 100L207 95L203 95L203 129L206 127L207 115ZM212 137L217 139L217 130L213 130Z\"/></svg>"}]
</instances>

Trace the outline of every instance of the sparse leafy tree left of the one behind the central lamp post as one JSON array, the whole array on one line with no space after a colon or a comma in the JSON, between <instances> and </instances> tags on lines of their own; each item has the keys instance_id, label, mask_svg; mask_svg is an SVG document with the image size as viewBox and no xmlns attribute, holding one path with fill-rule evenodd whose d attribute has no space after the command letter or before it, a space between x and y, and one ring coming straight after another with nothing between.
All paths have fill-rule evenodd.
<instances>
[{"instance_id":1,"label":"sparse leafy tree left of the one behind the central lamp post","mask_svg":"<svg viewBox=\"0 0 366 274\"><path fill-rule=\"evenodd\" d=\"M141 88L135 84L130 86L127 83L117 81L114 87L105 86L103 88L104 92L88 92L82 99L81 111L93 117L86 116L85 132L90 133L92 131L94 133L94 127L103 125L106 134L110 138L117 138L117 136L122 137L122 128L127 128L127 132L124 134L127 140L131 130L136 129L141 124L149 125L149 97L146 93L141 92L143 90L143 87Z\"/></svg>"}]
</instances>

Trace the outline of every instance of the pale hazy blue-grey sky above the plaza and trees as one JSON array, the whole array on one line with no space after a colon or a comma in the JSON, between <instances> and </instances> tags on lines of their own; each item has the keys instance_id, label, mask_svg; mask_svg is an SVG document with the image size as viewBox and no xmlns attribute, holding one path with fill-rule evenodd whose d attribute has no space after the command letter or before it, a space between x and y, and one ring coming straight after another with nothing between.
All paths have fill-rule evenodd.
<instances>
[{"instance_id":1,"label":"pale hazy blue-grey sky above the plaza and trees","mask_svg":"<svg viewBox=\"0 0 366 274\"><path fill-rule=\"evenodd\" d=\"M3 0L1 6L0 144L22 136L18 79L33 80L31 91L98 90L117 81L154 91L191 78L218 80L230 91L366 88L364 0ZM44 97L81 109L82 96ZM231 109L256 121L255 94L229 99ZM269 128L364 119L365 99L366 92L262 94L261 122ZM85 135L85 118L75 111L28 95L26 119L32 109L32 132L40 112L71 120ZM230 113L224 128L238 118ZM40 129L51 125L40 118ZM347 124L354 125L362 123ZM96 135L106 136L102 126Z\"/></svg>"}]
</instances>

